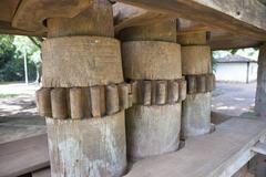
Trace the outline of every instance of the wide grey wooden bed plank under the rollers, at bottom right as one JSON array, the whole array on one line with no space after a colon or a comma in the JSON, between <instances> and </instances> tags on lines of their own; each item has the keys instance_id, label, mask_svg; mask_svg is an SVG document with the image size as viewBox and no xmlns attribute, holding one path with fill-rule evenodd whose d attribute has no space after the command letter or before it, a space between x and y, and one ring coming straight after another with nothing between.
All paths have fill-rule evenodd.
<instances>
[{"instance_id":1,"label":"wide grey wooden bed plank under the rollers, at bottom right","mask_svg":"<svg viewBox=\"0 0 266 177\"><path fill-rule=\"evenodd\" d=\"M137 162L126 177L228 177L254 157L250 149L265 134L264 121L231 118L176 153Z\"/></svg>"}]
</instances>

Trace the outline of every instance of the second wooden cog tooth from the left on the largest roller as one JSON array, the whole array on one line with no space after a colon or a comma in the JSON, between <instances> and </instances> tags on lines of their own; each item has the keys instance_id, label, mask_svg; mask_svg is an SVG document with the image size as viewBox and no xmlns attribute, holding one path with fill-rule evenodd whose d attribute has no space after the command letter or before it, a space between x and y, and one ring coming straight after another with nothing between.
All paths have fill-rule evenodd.
<instances>
[{"instance_id":1,"label":"second wooden cog tooth from the left on the largest roller","mask_svg":"<svg viewBox=\"0 0 266 177\"><path fill-rule=\"evenodd\" d=\"M51 105L53 118L68 118L68 98L65 88L53 88L51 91Z\"/></svg>"}]
</instances>

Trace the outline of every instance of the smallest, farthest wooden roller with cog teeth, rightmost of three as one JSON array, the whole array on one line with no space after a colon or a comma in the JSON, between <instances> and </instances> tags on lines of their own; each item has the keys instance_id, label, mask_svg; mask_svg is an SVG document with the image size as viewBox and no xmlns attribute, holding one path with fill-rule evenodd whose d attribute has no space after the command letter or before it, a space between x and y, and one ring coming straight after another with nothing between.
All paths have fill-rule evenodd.
<instances>
[{"instance_id":1,"label":"smallest, farthest wooden roller with cog teeth, rightmost of three","mask_svg":"<svg viewBox=\"0 0 266 177\"><path fill-rule=\"evenodd\" d=\"M206 32L180 34L177 42L183 45L182 73L187 79L188 88L182 106L182 137L186 138L211 131L211 48Z\"/></svg>"}]
</instances>

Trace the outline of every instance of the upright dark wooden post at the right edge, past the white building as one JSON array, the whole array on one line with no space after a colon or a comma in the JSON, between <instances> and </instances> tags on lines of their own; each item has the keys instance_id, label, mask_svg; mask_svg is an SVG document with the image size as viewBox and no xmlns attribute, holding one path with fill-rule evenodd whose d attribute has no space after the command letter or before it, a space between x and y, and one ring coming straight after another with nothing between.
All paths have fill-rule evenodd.
<instances>
[{"instance_id":1,"label":"upright dark wooden post at the right edge, past the white building","mask_svg":"<svg viewBox=\"0 0 266 177\"><path fill-rule=\"evenodd\" d=\"M266 44L259 48L257 90L255 100L255 112L260 116L266 115Z\"/></svg>"}]
</instances>

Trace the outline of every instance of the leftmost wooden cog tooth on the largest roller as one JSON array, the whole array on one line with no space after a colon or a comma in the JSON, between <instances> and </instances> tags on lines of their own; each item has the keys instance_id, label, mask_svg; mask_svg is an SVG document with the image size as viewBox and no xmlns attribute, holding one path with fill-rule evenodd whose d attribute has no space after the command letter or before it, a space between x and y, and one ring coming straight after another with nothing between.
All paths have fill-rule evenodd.
<instances>
[{"instance_id":1,"label":"leftmost wooden cog tooth on the largest roller","mask_svg":"<svg viewBox=\"0 0 266 177\"><path fill-rule=\"evenodd\" d=\"M42 87L37 91L37 102L39 114L45 117L52 117L52 107L51 107L51 88Z\"/></svg>"}]
</instances>

